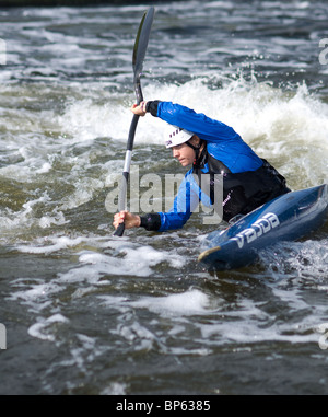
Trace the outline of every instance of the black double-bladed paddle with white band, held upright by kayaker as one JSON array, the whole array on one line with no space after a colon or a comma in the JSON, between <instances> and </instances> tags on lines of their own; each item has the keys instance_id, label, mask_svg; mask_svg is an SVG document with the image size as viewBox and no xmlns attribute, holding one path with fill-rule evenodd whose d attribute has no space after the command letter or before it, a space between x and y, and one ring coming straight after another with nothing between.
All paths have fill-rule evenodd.
<instances>
[{"instance_id":1,"label":"black double-bladed paddle with white band, held upright by kayaker","mask_svg":"<svg viewBox=\"0 0 328 417\"><path fill-rule=\"evenodd\" d=\"M140 104L143 101L141 84L140 84L140 77L142 72L143 59L145 56L149 35L150 35L153 19L154 19L154 11L155 9L151 7L148 10L148 12L143 14L139 25L138 33L137 33L134 47L133 47L133 55L132 55L132 68L134 73L133 84L134 84L134 92L136 92L138 104ZM131 157L132 157L134 134L136 134L139 117L140 116L138 115L133 115L130 130L129 130L127 151L126 151L126 158L125 158L125 166L122 172L122 181L121 181L119 196L118 196L118 211L122 211L126 209L126 196L127 196L128 181L129 181L129 174L130 174ZM122 236L124 232L125 232L125 223L121 223L116 229L114 235Z\"/></svg>"}]
</instances>

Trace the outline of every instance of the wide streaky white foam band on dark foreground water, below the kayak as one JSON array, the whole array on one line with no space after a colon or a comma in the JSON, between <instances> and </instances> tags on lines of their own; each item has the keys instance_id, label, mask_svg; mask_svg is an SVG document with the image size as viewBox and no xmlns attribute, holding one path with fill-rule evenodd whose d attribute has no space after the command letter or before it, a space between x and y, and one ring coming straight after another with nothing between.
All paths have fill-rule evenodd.
<instances>
[{"instance_id":1,"label":"wide streaky white foam band on dark foreground water, below the kayak","mask_svg":"<svg viewBox=\"0 0 328 417\"><path fill-rule=\"evenodd\" d=\"M292 303L294 314L308 308L304 301L297 302L296 293L289 293L283 289L280 291L281 293L274 289L274 296L286 304ZM160 349L166 355L207 356L212 354L215 346L234 343L246 344L251 350L253 345L268 340L291 344L318 340L315 314L286 323L266 311L267 302L242 299L232 310L225 302L218 302L216 297L209 297L197 289L166 297L140 297L137 301L112 296L101 296L99 299L102 305L122 314L122 320L118 321L112 333L122 340L133 343L134 347L139 344L138 350ZM152 313L153 318L148 326L138 321L140 310ZM317 314L323 312L324 309L316 311ZM188 318L190 316L206 316L207 320L191 321ZM161 329L161 317L166 320L165 333ZM194 335L192 343L188 338L190 332ZM185 348L172 346L175 338L186 338L188 343L186 341Z\"/></svg>"}]
</instances>

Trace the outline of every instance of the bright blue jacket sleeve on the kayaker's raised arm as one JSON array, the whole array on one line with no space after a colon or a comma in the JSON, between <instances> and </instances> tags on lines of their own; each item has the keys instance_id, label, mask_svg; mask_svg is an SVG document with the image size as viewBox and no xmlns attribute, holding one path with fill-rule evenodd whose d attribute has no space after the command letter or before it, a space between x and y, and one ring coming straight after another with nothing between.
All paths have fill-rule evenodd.
<instances>
[{"instance_id":1,"label":"bright blue jacket sleeve on the kayaker's raised arm","mask_svg":"<svg viewBox=\"0 0 328 417\"><path fill-rule=\"evenodd\" d=\"M196 113L191 108L172 102L156 101L154 103L156 103L157 117L171 125L192 131L201 139L214 142L218 142L218 139L239 139L239 135L232 127L203 113ZM151 113L154 115L154 111Z\"/></svg>"}]
</instances>

